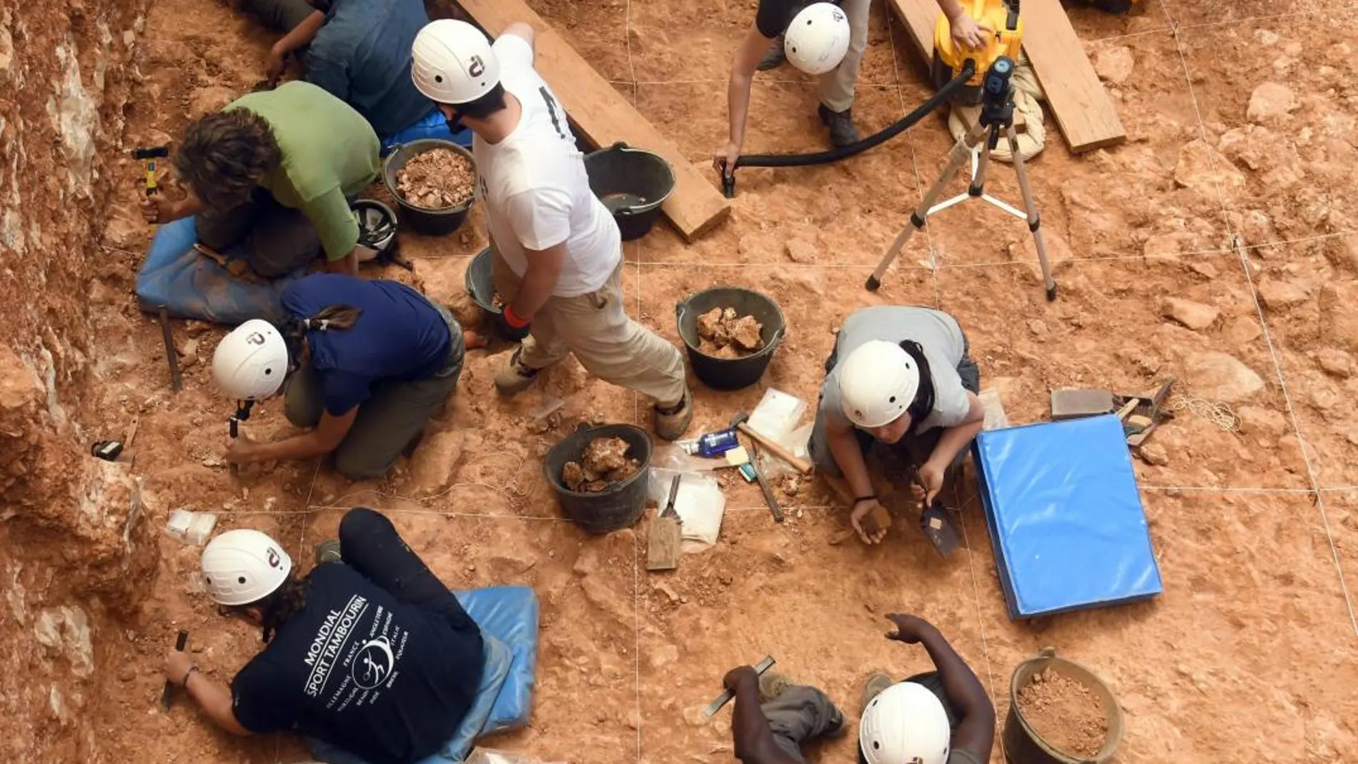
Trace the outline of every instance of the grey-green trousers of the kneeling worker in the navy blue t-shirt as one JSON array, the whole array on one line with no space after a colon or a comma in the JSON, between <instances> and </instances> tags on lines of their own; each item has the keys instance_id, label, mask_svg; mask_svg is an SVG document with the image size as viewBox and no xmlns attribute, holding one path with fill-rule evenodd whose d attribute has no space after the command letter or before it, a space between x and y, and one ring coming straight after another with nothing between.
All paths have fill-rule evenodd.
<instances>
[{"instance_id":1,"label":"grey-green trousers of the kneeling worker in the navy blue t-shirt","mask_svg":"<svg viewBox=\"0 0 1358 764\"><path fill-rule=\"evenodd\" d=\"M466 347L462 327L441 305L435 305L448 323L448 361L432 377L372 385L372 396L359 406L353 426L333 453L335 471L350 480L386 475L401 453L439 415L458 388ZM299 427L315 427L325 411L320 376L310 361L284 383L282 411Z\"/></svg>"}]
</instances>

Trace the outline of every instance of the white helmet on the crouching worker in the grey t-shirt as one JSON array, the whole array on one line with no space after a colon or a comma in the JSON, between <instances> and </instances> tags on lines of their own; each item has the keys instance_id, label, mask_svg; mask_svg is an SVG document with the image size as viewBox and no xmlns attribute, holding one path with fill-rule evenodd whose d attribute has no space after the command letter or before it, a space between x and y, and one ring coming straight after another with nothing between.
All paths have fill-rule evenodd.
<instances>
[{"instance_id":1,"label":"white helmet on the crouching worker in the grey t-shirt","mask_svg":"<svg viewBox=\"0 0 1358 764\"><path fill-rule=\"evenodd\" d=\"M845 417L860 427L895 422L918 389L919 366L891 342L864 342L839 366L839 403Z\"/></svg>"}]
</instances>

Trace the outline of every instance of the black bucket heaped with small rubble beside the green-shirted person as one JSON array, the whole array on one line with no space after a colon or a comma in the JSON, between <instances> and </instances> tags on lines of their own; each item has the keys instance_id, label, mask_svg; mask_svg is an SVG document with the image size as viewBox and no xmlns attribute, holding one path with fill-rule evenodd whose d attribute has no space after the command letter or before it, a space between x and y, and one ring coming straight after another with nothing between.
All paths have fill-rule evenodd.
<instances>
[{"instance_id":1,"label":"black bucket heaped with small rubble beside the green-shirted person","mask_svg":"<svg viewBox=\"0 0 1358 764\"><path fill-rule=\"evenodd\" d=\"M401 205L401 220L426 236L456 231L477 194L477 163L452 141L401 144L382 164L382 182Z\"/></svg>"}]
</instances>

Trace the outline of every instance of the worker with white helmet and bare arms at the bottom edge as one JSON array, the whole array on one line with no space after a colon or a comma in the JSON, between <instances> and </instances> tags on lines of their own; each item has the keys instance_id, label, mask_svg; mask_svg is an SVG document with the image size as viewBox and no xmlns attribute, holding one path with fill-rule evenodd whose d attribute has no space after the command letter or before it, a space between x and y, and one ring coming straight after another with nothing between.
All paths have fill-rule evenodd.
<instances>
[{"instance_id":1,"label":"worker with white helmet and bare arms at the bottom edge","mask_svg":"<svg viewBox=\"0 0 1358 764\"><path fill-rule=\"evenodd\" d=\"M917 616L889 615L887 639L923 645L937 670L892 683L868 677L858 722L860 764L986 764L995 741L995 708L942 634ZM807 764L801 746L846 731L843 712L815 687L750 666L727 673L736 693L731 722L744 764Z\"/></svg>"}]
</instances>

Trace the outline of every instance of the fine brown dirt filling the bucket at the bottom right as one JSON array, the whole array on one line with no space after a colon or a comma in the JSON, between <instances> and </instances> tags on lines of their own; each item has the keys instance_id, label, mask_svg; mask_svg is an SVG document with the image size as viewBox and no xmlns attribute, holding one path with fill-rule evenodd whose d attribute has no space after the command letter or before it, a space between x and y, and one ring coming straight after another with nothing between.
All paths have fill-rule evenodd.
<instances>
[{"instance_id":1,"label":"fine brown dirt filling the bucket at the bottom right","mask_svg":"<svg viewBox=\"0 0 1358 764\"><path fill-rule=\"evenodd\" d=\"M1032 676L1019 691L1019 711L1047 745L1074 756L1096 756L1108 736L1108 717L1099 698L1057 672Z\"/></svg>"}]
</instances>

